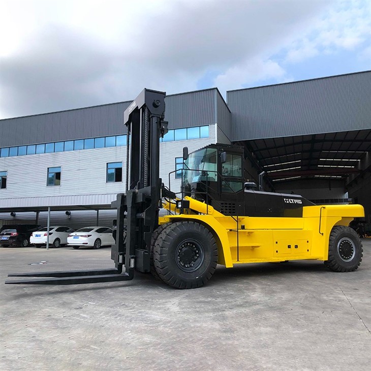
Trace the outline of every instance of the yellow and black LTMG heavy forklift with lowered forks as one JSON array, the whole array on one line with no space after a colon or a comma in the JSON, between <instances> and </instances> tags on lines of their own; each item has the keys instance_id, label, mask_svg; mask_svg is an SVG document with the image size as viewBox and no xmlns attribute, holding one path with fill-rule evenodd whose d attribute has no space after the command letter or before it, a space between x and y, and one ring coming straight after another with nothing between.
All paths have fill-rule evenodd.
<instances>
[{"instance_id":1,"label":"yellow and black LTMG heavy forklift with lowered forks","mask_svg":"<svg viewBox=\"0 0 371 371\"><path fill-rule=\"evenodd\" d=\"M151 272L178 289L203 286L217 264L321 260L336 272L358 268L362 244L349 227L361 205L315 205L300 195L258 191L244 179L243 148L183 148L181 190L159 178L159 139L167 133L165 93L144 89L124 112L126 192L117 195L114 269L14 273L8 284L132 280ZM173 172L172 172L173 173ZM169 185L170 185L169 174Z\"/></svg>"}]
</instances>

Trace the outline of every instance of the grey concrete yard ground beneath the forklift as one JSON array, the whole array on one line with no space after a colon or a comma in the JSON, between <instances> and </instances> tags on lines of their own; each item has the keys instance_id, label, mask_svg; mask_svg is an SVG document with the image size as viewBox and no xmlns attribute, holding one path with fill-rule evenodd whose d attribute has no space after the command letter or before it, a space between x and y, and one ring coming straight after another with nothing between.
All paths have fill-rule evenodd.
<instances>
[{"instance_id":1,"label":"grey concrete yard ground beneath the forklift","mask_svg":"<svg viewBox=\"0 0 371 371\"><path fill-rule=\"evenodd\" d=\"M351 273L322 262L218 267L176 290L4 285L9 272L110 268L110 249L0 249L0 369L369 370L371 239ZM44 264L33 264L46 261Z\"/></svg>"}]
</instances>

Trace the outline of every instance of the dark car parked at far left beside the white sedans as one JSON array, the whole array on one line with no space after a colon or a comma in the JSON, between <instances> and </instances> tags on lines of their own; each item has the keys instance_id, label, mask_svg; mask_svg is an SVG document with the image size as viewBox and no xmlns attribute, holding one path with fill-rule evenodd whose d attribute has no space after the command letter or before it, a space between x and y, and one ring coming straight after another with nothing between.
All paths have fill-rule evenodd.
<instances>
[{"instance_id":1,"label":"dark car parked at far left beside the white sedans","mask_svg":"<svg viewBox=\"0 0 371 371\"><path fill-rule=\"evenodd\" d=\"M14 224L3 226L0 229L0 245L1 246L23 246L29 244L29 237L32 232L40 229L37 224Z\"/></svg>"}]
</instances>

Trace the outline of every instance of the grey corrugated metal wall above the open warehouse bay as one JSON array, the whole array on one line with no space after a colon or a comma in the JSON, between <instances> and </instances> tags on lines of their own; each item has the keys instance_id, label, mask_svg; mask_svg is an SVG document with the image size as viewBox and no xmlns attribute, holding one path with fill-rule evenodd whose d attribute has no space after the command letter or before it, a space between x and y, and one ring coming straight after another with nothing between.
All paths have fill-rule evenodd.
<instances>
[{"instance_id":1,"label":"grey corrugated metal wall above the open warehouse bay","mask_svg":"<svg viewBox=\"0 0 371 371\"><path fill-rule=\"evenodd\" d=\"M371 72L227 92L231 140L371 128Z\"/></svg>"}]
</instances>

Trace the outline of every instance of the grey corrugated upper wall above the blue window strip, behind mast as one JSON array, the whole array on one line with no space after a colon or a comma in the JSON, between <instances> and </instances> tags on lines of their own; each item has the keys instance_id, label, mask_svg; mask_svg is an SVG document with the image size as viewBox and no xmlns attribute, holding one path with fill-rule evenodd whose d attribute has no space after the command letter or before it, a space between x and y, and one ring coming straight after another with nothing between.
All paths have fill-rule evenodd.
<instances>
[{"instance_id":1,"label":"grey corrugated upper wall above the blue window strip, behind mast","mask_svg":"<svg viewBox=\"0 0 371 371\"><path fill-rule=\"evenodd\" d=\"M165 119L169 121L169 129L217 122L215 94L217 89L213 88L166 97ZM0 147L125 134L123 112L130 103L0 120ZM228 120L226 109L221 111L223 122Z\"/></svg>"}]
</instances>

